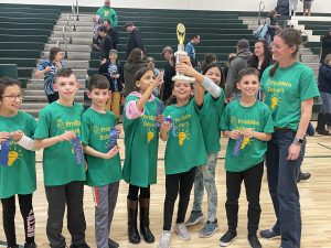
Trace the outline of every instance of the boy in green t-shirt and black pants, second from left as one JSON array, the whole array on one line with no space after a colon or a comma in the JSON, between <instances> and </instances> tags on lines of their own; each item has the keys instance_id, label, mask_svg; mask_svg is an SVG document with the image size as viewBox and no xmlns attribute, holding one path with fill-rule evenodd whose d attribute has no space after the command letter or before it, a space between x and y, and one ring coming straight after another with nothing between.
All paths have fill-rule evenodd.
<instances>
[{"instance_id":1,"label":"boy in green t-shirt and black pants, second from left","mask_svg":"<svg viewBox=\"0 0 331 248\"><path fill-rule=\"evenodd\" d=\"M79 83L71 68L62 68L56 73L54 88L60 98L42 109L34 133L34 147L44 148L43 171L49 202L46 235L52 248L66 246L62 226L67 205L71 248L88 248L85 242L86 223L83 211L86 177L78 139L84 108L74 103Z\"/></svg>"}]
</instances>

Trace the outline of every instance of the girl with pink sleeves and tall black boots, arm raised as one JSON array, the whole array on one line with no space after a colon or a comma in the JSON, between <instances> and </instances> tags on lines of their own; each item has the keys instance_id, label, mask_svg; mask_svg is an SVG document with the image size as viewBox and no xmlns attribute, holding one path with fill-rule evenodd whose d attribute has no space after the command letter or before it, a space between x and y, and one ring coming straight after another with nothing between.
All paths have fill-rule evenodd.
<instances>
[{"instance_id":1,"label":"girl with pink sleeves and tall black boots, arm raised","mask_svg":"<svg viewBox=\"0 0 331 248\"><path fill-rule=\"evenodd\" d=\"M122 174L129 183L128 235L132 244L140 242L137 229L138 192L140 205L140 231L146 242L153 242L149 229L150 185L157 183L159 130L156 127L157 109L160 100L152 91L161 84L163 75L154 77L153 71L143 67L135 73L134 82L138 91L126 98L124 130L126 159ZM161 117L157 117L161 120Z\"/></svg>"}]
</instances>

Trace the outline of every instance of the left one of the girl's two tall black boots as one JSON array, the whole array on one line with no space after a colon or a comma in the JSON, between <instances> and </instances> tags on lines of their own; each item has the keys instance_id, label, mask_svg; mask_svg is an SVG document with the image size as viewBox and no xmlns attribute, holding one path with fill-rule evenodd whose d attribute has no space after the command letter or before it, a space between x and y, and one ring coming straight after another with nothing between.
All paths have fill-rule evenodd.
<instances>
[{"instance_id":1,"label":"left one of the girl's two tall black boots","mask_svg":"<svg viewBox=\"0 0 331 248\"><path fill-rule=\"evenodd\" d=\"M131 244L140 242L140 235L137 228L138 201L127 200L128 204L128 236Z\"/></svg>"}]
</instances>

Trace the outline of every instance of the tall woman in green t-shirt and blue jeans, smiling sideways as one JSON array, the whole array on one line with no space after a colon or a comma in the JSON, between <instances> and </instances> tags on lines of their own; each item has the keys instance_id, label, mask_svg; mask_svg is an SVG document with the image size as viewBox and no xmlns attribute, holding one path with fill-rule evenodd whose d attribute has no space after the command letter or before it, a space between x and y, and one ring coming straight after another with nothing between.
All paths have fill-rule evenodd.
<instances>
[{"instance_id":1,"label":"tall woman in green t-shirt and blue jeans, smiling sideways","mask_svg":"<svg viewBox=\"0 0 331 248\"><path fill-rule=\"evenodd\" d=\"M297 30L287 29L277 34L271 50L276 64L268 67L261 77L265 103L271 109L275 125L275 132L268 142L266 165L277 222L260 235L264 238L281 235L282 248L300 247L301 214L297 177L313 97L319 96L312 69L297 62L300 44L300 32Z\"/></svg>"}]
</instances>

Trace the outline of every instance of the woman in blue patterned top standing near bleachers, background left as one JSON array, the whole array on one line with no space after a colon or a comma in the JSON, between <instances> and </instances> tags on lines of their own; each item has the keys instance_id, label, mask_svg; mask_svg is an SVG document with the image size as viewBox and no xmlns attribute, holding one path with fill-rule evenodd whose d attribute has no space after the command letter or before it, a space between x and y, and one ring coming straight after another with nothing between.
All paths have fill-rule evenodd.
<instances>
[{"instance_id":1,"label":"woman in blue patterned top standing near bleachers, background left","mask_svg":"<svg viewBox=\"0 0 331 248\"><path fill-rule=\"evenodd\" d=\"M50 58L43 61L36 68L35 76L44 76L44 90L49 99L49 104L58 99L58 93L54 90L53 83L57 69L66 67L62 62L63 52L58 47L52 47L50 51Z\"/></svg>"}]
</instances>

